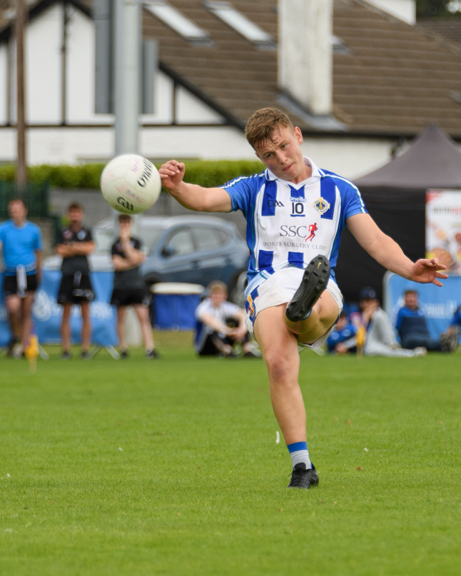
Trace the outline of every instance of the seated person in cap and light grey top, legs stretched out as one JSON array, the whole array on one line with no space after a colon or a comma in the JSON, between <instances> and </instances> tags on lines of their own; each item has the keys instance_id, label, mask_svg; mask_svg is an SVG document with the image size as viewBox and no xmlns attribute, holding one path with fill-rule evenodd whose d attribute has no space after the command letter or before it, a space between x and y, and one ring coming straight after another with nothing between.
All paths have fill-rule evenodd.
<instances>
[{"instance_id":1,"label":"seated person in cap and light grey top, legs stretched out","mask_svg":"<svg viewBox=\"0 0 461 576\"><path fill-rule=\"evenodd\" d=\"M390 356L393 358L408 358L422 356L427 353L426 348L417 346L414 350L404 350L395 338L389 316L380 307L380 300L376 298L376 291L370 286L360 290L360 310L362 310L363 328L366 330L365 356Z\"/></svg>"}]
</instances>

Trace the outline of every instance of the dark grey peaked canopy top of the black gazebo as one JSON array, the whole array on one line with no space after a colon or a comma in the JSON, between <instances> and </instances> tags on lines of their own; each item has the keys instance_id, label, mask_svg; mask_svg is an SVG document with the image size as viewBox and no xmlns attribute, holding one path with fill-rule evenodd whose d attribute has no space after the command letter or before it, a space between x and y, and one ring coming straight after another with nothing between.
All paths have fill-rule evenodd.
<instances>
[{"instance_id":1,"label":"dark grey peaked canopy top of the black gazebo","mask_svg":"<svg viewBox=\"0 0 461 576\"><path fill-rule=\"evenodd\" d=\"M365 188L461 188L461 153L450 136L433 122L410 148L378 170L355 181Z\"/></svg>"}]
</instances>

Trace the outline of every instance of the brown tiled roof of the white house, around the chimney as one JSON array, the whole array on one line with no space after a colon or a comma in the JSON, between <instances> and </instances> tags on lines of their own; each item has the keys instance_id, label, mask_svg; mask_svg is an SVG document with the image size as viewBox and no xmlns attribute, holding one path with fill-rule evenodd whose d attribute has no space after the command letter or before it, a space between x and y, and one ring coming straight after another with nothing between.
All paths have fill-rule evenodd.
<instances>
[{"instance_id":1,"label":"brown tiled roof of the white house, around the chimney","mask_svg":"<svg viewBox=\"0 0 461 576\"><path fill-rule=\"evenodd\" d=\"M169 2L208 31L212 43L191 44L144 10L143 36L158 40L163 71L240 128L258 108L277 106L305 133L325 133L308 114L280 103L275 50L258 49L203 0ZM277 37L277 0L232 4ZM333 31L347 49L333 54L333 115L346 133L411 137L438 121L461 138L461 49L455 41L398 21L363 0L334 0Z\"/></svg>"}]
</instances>

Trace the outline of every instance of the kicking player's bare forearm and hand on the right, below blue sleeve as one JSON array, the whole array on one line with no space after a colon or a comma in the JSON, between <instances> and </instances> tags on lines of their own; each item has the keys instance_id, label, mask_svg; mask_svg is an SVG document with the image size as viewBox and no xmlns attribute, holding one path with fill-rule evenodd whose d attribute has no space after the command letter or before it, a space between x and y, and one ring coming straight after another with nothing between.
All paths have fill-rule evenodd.
<instances>
[{"instance_id":1,"label":"kicking player's bare forearm and hand on the right, below blue sleeve","mask_svg":"<svg viewBox=\"0 0 461 576\"><path fill-rule=\"evenodd\" d=\"M397 242L381 231L369 214L355 214L346 223L360 246L387 270L413 282L435 286L442 286L437 278L448 278L447 274L440 272L447 267L439 264L437 258L421 258L416 262L407 258Z\"/></svg>"}]
</instances>

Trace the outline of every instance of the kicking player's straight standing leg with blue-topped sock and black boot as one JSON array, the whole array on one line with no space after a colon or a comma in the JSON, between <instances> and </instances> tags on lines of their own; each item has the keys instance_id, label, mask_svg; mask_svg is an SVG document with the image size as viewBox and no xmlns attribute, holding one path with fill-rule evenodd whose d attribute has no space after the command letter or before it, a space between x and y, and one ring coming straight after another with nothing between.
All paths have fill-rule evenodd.
<instances>
[{"instance_id":1,"label":"kicking player's straight standing leg with blue-topped sock and black boot","mask_svg":"<svg viewBox=\"0 0 461 576\"><path fill-rule=\"evenodd\" d=\"M318 484L305 433L305 408L298 383L298 339L285 325L285 304L265 308L255 320L255 338L268 370L270 400L293 460L289 487Z\"/></svg>"}]
</instances>

